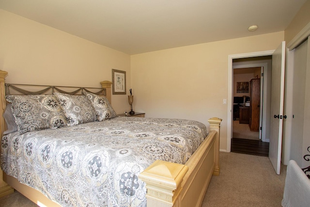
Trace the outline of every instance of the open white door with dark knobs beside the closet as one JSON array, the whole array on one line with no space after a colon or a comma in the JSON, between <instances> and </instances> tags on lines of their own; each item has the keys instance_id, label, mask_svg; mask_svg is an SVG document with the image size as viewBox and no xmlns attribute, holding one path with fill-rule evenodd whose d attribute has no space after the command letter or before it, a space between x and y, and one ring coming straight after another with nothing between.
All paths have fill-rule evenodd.
<instances>
[{"instance_id":1,"label":"open white door with dark knobs beside the closet","mask_svg":"<svg viewBox=\"0 0 310 207\"><path fill-rule=\"evenodd\" d=\"M272 54L271 72L271 118L269 159L280 174L282 126L283 126L283 99L284 99L284 71L285 71L285 42Z\"/></svg>"}]
</instances>

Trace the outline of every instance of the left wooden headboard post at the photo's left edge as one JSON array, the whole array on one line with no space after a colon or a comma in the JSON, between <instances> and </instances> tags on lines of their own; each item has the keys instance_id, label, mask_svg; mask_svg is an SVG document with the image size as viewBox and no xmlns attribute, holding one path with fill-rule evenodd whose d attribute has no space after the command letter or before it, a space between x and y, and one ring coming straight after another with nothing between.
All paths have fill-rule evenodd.
<instances>
[{"instance_id":1,"label":"left wooden headboard post at the photo's left edge","mask_svg":"<svg viewBox=\"0 0 310 207\"><path fill-rule=\"evenodd\" d=\"M3 113L5 109L5 85L4 85L4 80L5 77L8 75L8 72L0 70L0 96L1 96L1 101L0 101L0 132L1 132L1 138L3 135L3 132L5 130L5 122L3 118ZM0 146L1 147L1 146ZM0 197L3 197L5 195L11 194L14 192L14 189L9 186L6 182L3 181L3 172L0 169Z\"/></svg>"}]
</instances>

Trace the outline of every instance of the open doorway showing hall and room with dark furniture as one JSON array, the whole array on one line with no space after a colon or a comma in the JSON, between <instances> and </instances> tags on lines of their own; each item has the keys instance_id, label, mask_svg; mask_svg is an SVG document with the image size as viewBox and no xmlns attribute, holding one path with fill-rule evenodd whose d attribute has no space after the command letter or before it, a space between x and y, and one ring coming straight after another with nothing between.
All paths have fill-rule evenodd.
<instances>
[{"instance_id":1,"label":"open doorway showing hall and room with dark furniture","mask_svg":"<svg viewBox=\"0 0 310 207\"><path fill-rule=\"evenodd\" d=\"M271 59L271 56L233 59L232 152L268 156L266 113L270 110L267 102Z\"/></svg>"}]
</instances>

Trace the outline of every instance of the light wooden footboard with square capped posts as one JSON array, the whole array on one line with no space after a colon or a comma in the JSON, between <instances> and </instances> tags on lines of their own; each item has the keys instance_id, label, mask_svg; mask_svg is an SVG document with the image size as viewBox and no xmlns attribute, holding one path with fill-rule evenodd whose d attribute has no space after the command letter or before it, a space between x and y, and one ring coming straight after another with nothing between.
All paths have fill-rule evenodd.
<instances>
[{"instance_id":1,"label":"light wooden footboard with square capped posts","mask_svg":"<svg viewBox=\"0 0 310 207\"><path fill-rule=\"evenodd\" d=\"M219 126L211 118L210 134L185 165L155 161L139 178L146 183L148 207L200 207L212 175L219 175Z\"/></svg>"}]
</instances>

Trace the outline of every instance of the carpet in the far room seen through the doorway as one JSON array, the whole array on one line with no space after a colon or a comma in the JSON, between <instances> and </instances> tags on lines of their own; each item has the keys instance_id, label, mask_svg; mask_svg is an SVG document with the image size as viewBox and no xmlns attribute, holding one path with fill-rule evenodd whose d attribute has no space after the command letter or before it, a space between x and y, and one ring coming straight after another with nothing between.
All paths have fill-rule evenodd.
<instances>
[{"instance_id":1,"label":"carpet in the far room seen through the doorway","mask_svg":"<svg viewBox=\"0 0 310 207\"><path fill-rule=\"evenodd\" d=\"M233 138L260 140L259 132L251 131L248 124L239 124L239 120L233 121Z\"/></svg>"}]
</instances>

